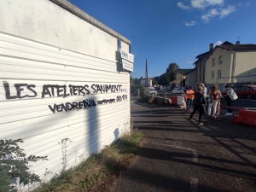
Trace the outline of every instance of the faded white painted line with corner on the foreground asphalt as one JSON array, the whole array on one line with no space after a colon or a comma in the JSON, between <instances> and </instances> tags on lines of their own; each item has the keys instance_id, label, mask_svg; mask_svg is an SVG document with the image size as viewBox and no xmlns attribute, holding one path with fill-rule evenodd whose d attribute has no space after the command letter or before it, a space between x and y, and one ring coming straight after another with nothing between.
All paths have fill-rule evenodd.
<instances>
[{"instance_id":1,"label":"faded white painted line with corner on the foreground asphalt","mask_svg":"<svg viewBox=\"0 0 256 192\"><path fill-rule=\"evenodd\" d=\"M154 142L150 142L150 143L154 143ZM198 154L196 152L195 149L193 148L183 148L183 147L179 147L176 145L169 145L169 144L164 144L164 143L154 143L156 145L162 145L162 146L166 146L166 147L170 147L170 148L180 148L183 150L189 150L193 152L193 161L197 162L198 161ZM191 192L197 192L198 191L198 179L195 177L191 177L190 178L190 191Z\"/></svg>"}]
</instances>

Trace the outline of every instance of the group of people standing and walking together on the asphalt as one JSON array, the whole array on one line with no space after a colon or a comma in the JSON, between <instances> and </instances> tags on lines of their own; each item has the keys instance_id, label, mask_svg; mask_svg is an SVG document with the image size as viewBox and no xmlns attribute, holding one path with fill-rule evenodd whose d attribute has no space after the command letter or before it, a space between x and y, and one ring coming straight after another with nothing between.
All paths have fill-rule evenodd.
<instances>
[{"instance_id":1,"label":"group of people standing and walking together on the asphalt","mask_svg":"<svg viewBox=\"0 0 256 192\"><path fill-rule=\"evenodd\" d=\"M230 84L225 85L227 89L227 96L225 96L225 100L227 102L227 110L228 113L226 115L233 115L232 113L232 106L233 101L231 100L230 96L234 92L234 90L230 87ZM219 97L222 96L221 92L218 90L218 87L214 84L210 87L209 97L207 101L207 87L205 84L200 84L197 87L197 91L195 92L191 86L189 86L188 90L185 91L186 96L186 103L187 103L187 110L191 110L191 104L193 102L194 109L189 116L189 121L191 121L193 115L196 111L199 112L199 120L198 125L203 125L201 122L202 114L205 112L207 116L212 116L213 119L218 117L220 112L220 100ZM208 102L208 109L206 110Z\"/></svg>"}]
</instances>

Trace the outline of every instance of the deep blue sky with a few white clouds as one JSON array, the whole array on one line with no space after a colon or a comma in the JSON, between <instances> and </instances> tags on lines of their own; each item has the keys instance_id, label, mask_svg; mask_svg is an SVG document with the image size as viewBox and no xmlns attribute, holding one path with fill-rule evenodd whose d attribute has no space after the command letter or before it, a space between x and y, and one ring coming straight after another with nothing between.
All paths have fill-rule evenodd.
<instances>
[{"instance_id":1,"label":"deep blue sky with a few white clouds","mask_svg":"<svg viewBox=\"0 0 256 192\"><path fill-rule=\"evenodd\" d=\"M131 40L133 78L194 68L209 44L256 44L256 0L68 0Z\"/></svg>"}]
</instances>

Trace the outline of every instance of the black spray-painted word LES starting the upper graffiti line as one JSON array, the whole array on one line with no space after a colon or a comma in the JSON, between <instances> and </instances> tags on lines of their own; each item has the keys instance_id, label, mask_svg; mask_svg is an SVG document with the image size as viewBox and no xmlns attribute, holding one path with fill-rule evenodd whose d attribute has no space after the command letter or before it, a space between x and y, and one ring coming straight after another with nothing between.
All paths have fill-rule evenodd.
<instances>
[{"instance_id":1,"label":"black spray-painted word LES starting the upper graffiti line","mask_svg":"<svg viewBox=\"0 0 256 192\"><path fill-rule=\"evenodd\" d=\"M36 85L34 85L34 84L15 84L15 89L16 89L16 95L15 96L10 95L9 83L3 82L3 87L4 87L4 90L5 90L5 98L6 99L16 99L16 98L22 99L22 98L25 98L25 97L38 96L37 92L32 89L32 88L36 87ZM21 91L24 90L24 87L26 87L27 90L32 91L33 95L21 96Z\"/></svg>"}]
</instances>

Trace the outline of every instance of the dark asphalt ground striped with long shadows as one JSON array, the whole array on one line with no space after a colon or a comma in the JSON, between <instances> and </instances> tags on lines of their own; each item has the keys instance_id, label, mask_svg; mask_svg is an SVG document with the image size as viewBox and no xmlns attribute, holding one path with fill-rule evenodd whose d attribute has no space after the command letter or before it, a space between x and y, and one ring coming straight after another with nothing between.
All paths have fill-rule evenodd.
<instances>
[{"instance_id":1,"label":"dark asphalt ground striped with long shadows","mask_svg":"<svg viewBox=\"0 0 256 192\"><path fill-rule=\"evenodd\" d=\"M113 192L256 191L256 128L225 116L196 125L198 113L192 122L189 114L131 103L134 127L146 138Z\"/></svg>"}]
</instances>

